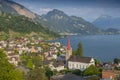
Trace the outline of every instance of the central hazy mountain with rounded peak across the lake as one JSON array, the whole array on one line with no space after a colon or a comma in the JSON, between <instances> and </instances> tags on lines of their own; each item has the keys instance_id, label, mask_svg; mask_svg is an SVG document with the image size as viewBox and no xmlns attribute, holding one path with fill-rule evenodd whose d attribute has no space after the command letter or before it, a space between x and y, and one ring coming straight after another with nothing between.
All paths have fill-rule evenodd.
<instances>
[{"instance_id":1,"label":"central hazy mountain with rounded peak across the lake","mask_svg":"<svg viewBox=\"0 0 120 80\"><path fill-rule=\"evenodd\" d=\"M95 27L90 22L81 17L68 16L63 11L54 9L46 15L42 15L40 23L44 27L57 33L80 33L80 34L100 34L102 30Z\"/></svg>"}]
</instances>

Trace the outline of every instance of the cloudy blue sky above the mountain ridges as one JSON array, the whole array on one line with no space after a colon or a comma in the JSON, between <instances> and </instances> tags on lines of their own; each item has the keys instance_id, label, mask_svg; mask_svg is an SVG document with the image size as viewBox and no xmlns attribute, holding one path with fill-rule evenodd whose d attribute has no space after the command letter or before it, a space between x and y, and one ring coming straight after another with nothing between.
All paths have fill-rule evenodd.
<instances>
[{"instance_id":1,"label":"cloudy blue sky above the mountain ridges","mask_svg":"<svg viewBox=\"0 0 120 80\"><path fill-rule=\"evenodd\" d=\"M64 11L69 16L94 21L101 15L120 17L120 0L13 0L31 11L42 15L53 9Z\"/></svg>"}]
</instances>

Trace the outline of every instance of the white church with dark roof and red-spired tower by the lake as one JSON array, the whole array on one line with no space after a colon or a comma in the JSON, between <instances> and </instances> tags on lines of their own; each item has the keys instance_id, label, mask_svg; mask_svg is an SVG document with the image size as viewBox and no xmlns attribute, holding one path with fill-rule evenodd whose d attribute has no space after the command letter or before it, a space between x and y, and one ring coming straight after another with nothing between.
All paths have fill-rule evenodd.
<instances>
[{"instance_id":1,"label":"white church with dark roof and red-spired tower by the lake","mask_svg":"<svg viewBox=\"0 0 120 80\"><path fill-rule=\"evenodd\" d=\"M82 71L91 65L95 65L94 58L92 57L80 57L78 55L74 55L74 56L72 55L70 37L68 37L65 59L68 69L80 69Z\"/></svg>"}]
</instances>

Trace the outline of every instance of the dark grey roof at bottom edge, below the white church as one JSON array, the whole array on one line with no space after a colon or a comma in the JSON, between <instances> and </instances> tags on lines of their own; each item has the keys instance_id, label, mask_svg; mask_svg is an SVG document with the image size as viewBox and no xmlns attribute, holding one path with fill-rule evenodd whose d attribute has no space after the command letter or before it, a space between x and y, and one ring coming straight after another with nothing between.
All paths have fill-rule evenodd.
<instances>
[{"instance_id":1,"label":"dark grey roof at bottom edge, below the white church","mask_svg":"<svg viewBox=\"0 0 120 80\"><path fill-rule=\"evenodd\" d=\"M64 74L64 75L52 76L50 80L86 80L86 79L80 76L76 76L74 74Z\"/></svg>"}]
</instances>

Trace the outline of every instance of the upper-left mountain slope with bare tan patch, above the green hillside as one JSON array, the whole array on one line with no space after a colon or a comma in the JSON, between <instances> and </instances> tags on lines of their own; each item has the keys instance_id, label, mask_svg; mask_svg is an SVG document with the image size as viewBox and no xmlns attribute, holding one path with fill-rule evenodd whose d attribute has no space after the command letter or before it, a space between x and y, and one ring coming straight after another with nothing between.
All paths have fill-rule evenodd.
<instances>
[{"instance_id":1,"label":"upper-left mountain slope with bare tan patch, above the green hillside","mask_svg":"<svg viewBox=\"0 0 120 80\"><path fill-rule=\"evenodd\" d=\"M36 14L25 8L24 6L11 0L0 0L0 11L11 13L14 15L23 15L28 18L36 18Z\"/></svg>"}]
</instances>

